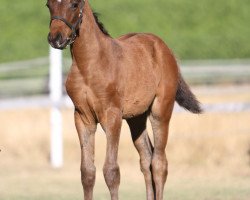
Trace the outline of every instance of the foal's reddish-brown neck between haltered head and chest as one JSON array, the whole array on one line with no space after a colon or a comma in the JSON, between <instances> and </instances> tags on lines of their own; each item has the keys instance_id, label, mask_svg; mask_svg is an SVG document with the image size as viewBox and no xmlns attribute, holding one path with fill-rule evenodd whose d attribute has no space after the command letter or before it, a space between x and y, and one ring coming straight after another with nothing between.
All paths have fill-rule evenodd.
<instances>
[{"instance_id":1,"label":"foal's reddish-brown neck between haltered head and chest","mask_svg":"<svg viewBox=\"0 0 250 200\"><path fill-rule=\"evenodd\" d=\"M72 48L73 57L78 66L86 66L87 62L91 62L91 59L98 58L98 54L101 53L100 50L107 46L107 40L108 37L102 33L96 24L92 9L86 0L79 37L74 42Z\"/></svg>"}]
</instances>

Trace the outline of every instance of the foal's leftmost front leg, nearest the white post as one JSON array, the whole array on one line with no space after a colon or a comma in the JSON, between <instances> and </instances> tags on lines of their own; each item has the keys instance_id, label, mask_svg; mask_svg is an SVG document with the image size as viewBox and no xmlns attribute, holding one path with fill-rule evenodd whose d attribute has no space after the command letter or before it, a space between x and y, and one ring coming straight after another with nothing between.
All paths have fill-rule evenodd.
<instances>
[{"instance_id":1,"label":"foal's leftmost front leg, nearest the white post","mask_svg":"<svg viewBox=\"0 0 250 200\"><path fill-rule=\"evenodd\" d=\"M81 145L81 180L84 199L93 199L96 168L94 165L96 123L86 123L78 111L75 111L75 125Z\"/></svg>"}]
</instances>

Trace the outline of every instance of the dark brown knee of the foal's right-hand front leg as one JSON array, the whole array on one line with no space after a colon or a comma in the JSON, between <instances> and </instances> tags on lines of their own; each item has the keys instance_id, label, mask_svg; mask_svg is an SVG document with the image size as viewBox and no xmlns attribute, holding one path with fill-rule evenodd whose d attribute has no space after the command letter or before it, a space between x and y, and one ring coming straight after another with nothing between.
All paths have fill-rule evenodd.
<instances>
[{"instance_id":1,"label":"dark brown knee of the foal's right-hand front leg","mask_svg":"<svg viewBox=\"0 0 250 200\"><path fill-rule=\"evenodd\" d=\"M103 174L109 188L119 186L120 168L118 164L105 164L103 167Z\"/></svg>"}]
</instances>

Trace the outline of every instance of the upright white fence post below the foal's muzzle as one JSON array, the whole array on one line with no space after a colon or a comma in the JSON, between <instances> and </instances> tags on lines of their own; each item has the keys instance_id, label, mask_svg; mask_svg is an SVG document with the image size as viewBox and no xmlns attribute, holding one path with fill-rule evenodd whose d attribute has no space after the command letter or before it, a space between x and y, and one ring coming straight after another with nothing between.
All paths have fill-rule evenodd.
<instances>
[{"instance_id":1,"label":"upright white fence post below the foal's muzzle","mask_svg":"<svg viewBox=\"0 0 250 200\"><path fill-rule=\"evenodd\" d=\"M62 51L50 47L50 101L51 101L51 142L50 161L54 168L63 165L62 115Z\"/></svg>"}]
</instances>

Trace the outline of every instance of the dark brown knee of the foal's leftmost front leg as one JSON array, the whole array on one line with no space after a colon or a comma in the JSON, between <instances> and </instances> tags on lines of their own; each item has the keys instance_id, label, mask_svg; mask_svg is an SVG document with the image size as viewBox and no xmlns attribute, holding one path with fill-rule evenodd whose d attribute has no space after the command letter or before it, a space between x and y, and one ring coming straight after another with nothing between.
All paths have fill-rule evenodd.
<instances>
[{"instance_id":1,"label":"dark brown knee of the foal's leftmost front leg","mask_svg":"<svg viewBox=\"0 0 250 200\"><path fill-rule=\"evenodd\" d=\"M96 174L95 166L92 167L81 166L81 179L84 187L90 187L90 188L94 187L95 174Z\"/></svg>"}]
</instances>

